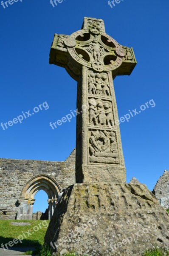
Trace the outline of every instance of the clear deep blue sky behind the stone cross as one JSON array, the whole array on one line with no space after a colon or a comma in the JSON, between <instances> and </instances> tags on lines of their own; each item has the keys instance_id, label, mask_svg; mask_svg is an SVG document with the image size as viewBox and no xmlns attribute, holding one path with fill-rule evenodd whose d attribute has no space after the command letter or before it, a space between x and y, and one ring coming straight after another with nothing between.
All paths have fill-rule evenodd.
<instances>
[{"instance_id":1,"label":"clear deep blue sky behind the stone cross","mask_svg":"<svg viewBox=\"0 0 169 256\"><path fill-rule=\"evenodd\" d=\"M135 176L152 190L169 169L168 10L168 0L121 0L113 8L107 0L0 5L0 123L43 102L49 106L0 127L0 157L62 161L75 148L76 118L55 130L49 126L76 109L77 88L63 68L48 64L49 51L54 33L70 35L84 17L101 18L108 35L133 47L138 62L131 76L114 81L119 117L155 102L120 125L127 181Z\"/></svg>"}]
</instances>

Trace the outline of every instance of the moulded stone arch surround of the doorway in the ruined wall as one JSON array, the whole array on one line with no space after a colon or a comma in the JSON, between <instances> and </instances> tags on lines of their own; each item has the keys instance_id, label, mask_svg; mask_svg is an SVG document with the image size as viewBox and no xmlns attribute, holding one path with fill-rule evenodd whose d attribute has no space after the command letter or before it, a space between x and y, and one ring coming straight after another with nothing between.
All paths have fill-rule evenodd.
<instances>
[{"instance_id":1,"label":"moulded stone arch surround of the doorway in the ruined wall","mask_svg":"<svg viewBox=\"0 0 169 256\"><path fill-rule=\"evenodd\" d=\"M39 190L44 190L48 195L48 219L51 219L61 188L59 184L48 175L38 175L26 183L20 194L20 199L17 201L19 204L17 219L32 219L33 204L35 201L34 196Z\"/></svg>"}]
</instances>

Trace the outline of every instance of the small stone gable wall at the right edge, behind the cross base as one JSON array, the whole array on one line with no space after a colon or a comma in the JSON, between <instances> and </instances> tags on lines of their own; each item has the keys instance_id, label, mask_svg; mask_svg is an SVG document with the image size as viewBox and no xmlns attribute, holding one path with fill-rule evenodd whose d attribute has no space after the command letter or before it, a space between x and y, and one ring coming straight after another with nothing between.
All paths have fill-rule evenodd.
<instances>
[{"instance_id":1,"label":"small stone gable wall at the right edge, behind the cross base","mask_svg":"<svg viewBox=\"0 0 169 256\"><path fill-rule=\"evenodd\" d=\"M169 209L169 171L164 171L152 193L164 208Z\"/></svg>"}]
</instances>

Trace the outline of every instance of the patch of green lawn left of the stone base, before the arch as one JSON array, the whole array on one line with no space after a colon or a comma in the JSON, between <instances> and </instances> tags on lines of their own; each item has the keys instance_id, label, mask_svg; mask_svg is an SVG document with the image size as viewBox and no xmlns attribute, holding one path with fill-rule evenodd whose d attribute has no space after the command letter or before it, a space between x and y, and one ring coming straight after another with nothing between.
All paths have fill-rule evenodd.
<instances>
[{"instance_id":1,"label":"patch of green lawn left of the stone base, before the arch","mask_svg":"<svg viewBox=\"0 0 169 256\"><path fill-rule=\"evenodd\" d=\"M11 222L30 222L30 226L12 226ZM42 225L44 224L44 227ZM49 224L49 221L47 221ZM41 224L40 228L38 224ZM33 228L37 226L38 231L34 231ZM31 235L26 232L31 233ZM44 237L47 230L47 225L42 220L0 220L0 241L3 244L13 241L13 239L18 236L23 236L25 234L22 243L20 241L17 244L14 244L12 247L41 247L44 243Z\"/></svg>"}]
</instances>

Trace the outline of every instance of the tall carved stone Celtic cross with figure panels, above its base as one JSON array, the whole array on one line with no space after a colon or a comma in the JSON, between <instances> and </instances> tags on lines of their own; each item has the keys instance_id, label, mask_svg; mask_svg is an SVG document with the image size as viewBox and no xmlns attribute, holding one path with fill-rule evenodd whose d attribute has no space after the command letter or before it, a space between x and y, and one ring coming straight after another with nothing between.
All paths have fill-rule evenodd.
<instances>
[{"instance_id":1,"label":"tall carved stone Celtic cross with figure panels, above its base","mask_svg":"<svg viewBox=\"0 0 169 256\"><path fill-rule=\"evenodd\" d=\"M55 34L50 64L65 67L78 82L76 183L125 183L113 79L132 73L133 49L107 35L103 20L85 17L82 30Z\"/></svg>"}]
</instances>

